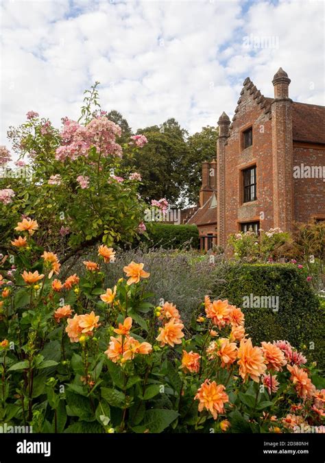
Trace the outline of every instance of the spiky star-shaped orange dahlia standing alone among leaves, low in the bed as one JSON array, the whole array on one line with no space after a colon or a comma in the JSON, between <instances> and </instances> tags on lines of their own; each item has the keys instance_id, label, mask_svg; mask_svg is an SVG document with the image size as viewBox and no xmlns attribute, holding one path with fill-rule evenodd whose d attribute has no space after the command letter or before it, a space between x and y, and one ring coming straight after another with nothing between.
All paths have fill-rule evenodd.
<instances>
[{"instance_id":1,"label":"spiky star-shaped orange dahlia standing alone among leaves, low in the bed","mask_svg":"<svg viewBox=\"0 0 325 463\"><path fill-rule=\"evenodd\" d=\"M197 390L194 398L200 401L199 412L202 412L205 408L212 414L215 420L218 417L218 413L224 413L224 404L229 402L228 395L224 390L224 385L217 384L215 381L210 382L209 379L206 379Z\"/></svg>"}]
</instances>

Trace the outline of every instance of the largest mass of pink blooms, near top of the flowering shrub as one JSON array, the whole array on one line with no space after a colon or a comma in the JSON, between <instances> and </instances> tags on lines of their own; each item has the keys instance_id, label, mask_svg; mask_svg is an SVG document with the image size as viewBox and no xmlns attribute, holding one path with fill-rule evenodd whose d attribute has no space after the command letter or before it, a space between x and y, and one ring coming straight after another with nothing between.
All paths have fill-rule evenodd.
<instances>
[{"instance_id":1,"label":"largest mass of pink blooms, near top of the flowering shrub","mask_svg":"<svg viewBox=\"0 0 325 463\"><path fill-rule=\"evenodd\" d=\"M80 156L88 156L91 147L96 148L102 156L122 156L122 147L116 143L117 136L121 136L121 128L116 123L109 121L107 117L95 117L86 126L80 126L76 121L64 118L62 146L56 150L56 159L72 161Z\"/></svg>"}]
</instances>

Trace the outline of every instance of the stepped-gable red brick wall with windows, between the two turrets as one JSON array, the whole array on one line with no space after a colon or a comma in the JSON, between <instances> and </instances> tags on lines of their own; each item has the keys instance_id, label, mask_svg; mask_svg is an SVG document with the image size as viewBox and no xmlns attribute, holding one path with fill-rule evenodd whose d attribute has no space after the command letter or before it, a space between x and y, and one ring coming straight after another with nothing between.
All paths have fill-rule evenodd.
<instances>
[{"instance_id":1,"label":"stepped-gable red brick wall with windows, between the two turrets","mask_svg":"<svg viewBox=\"0 0 325 463\"><path fill-rule=\"evenodd\" d=\"M265 114L268 101L259 101L260 96L256 97L256 91L250 93L252 88L247 86L250 84L243 89L226 145L226 237L240 230L241 222L260 220L265 230L273 226L272 123L269 112ZM242 132L251 126L253 145L243 150ZM241 169L254 164L257 200L243 204Z\"/></svg>"}]
</instances>

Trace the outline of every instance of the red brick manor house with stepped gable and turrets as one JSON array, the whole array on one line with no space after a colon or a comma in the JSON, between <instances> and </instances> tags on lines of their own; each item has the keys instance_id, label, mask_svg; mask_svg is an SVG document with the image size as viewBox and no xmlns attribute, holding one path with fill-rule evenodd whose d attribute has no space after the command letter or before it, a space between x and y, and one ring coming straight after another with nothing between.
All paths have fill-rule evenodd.
<instances>
[{"instance_id":1,"label":"red brick manor house with stepped gable and turrets","mask_svg":"<svg viewBox=\"0 0 325 463\"><path fill-rule=\"evenodd\" d=\"M267 98L246 78L232 123L219 117L217 159L203 163L200 205L184 219L202 249L240 230L325 219L325 107L293 102L290 82L280 68Z\"/></svg>"}]
</instances>

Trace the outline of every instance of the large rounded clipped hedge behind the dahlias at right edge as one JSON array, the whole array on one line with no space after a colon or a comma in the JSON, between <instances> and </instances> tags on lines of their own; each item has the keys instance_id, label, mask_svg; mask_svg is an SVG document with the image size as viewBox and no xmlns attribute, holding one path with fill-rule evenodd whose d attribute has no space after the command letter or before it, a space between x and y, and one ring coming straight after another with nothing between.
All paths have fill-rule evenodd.
<instances>
[{"instance_id":1,"label":"large rounded clipped hedge behind the dahlias at right edge","mask_svg":"<svg viewBox=\"0 0 325 463\"><path fill-rule=\"evenodd\" d=\"M216 283L215 294L243 309L245 328L254 342L287 340L324 368L324 307L303 270L292 264L234 264L224 282ZM250 294L278 296L278 311L244 308L243 298Z\"/></svg>"}]
</instances>

